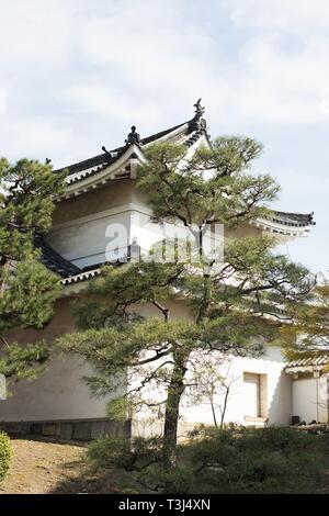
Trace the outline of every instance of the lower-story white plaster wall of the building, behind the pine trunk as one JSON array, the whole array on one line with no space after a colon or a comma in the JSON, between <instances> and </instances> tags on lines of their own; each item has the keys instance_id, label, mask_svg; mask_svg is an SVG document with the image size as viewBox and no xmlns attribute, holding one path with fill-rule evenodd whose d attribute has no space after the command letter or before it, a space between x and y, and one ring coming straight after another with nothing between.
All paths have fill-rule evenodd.
<instances>
[{"instance_id":1,"label":"lower-story white plaster wall of the building, behind the pine trunk","mask_svg":"<svg viewBox=\"0 0 329 516\"><path fill-rule=\"evenodd\" d=\"M234 379L229 395L226 422L239 424L254 424L245 420L245 390L243 372L266 375L266 416L269 424L287 425L291 423L292 400L291 380L283 371L284 362L279 349L269 348L265 356L260 359L232 358L230 375ZM84 419L105 417L106 404L110 396L97 399L90 395L89 388L81 380L83 374L91 372L91 368L78 357L55 358L48 370L35 381L22 381L12 388L12 395L7 401L0 401L0 420L47 420L47 419ZM296 391L297 382L294 383ZM300 396L299 396L300 397ZM295 397L296 400L299 400ZM223 400L216 400L222 404ZM300 399L302 402L302 399ZM296 405L294 413L296 413ZM197 423L213 424L209 403L197 404L183 399L181 404L180 431L191 429ZM220 414L217 412L219 420ZM307 418L310 418L307 417ZM151 423L151 426L150 426ZM133 424L133 433L147 434L152 427L161 429L162 422L152 417L152 420L140 420Z\"/></svg>"}]
</instances>

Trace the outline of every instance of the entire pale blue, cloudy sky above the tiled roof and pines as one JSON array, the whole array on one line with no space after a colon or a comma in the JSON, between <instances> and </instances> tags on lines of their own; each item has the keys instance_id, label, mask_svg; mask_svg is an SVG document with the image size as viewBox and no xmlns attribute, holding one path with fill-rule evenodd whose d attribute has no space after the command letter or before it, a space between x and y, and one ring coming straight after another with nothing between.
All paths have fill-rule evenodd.
<instances>
[{"instance_id":1,"label":"entire pale blue, cloudy sky above the tiled roof and pines","mask_svg":"<svg viewBox=\"0 0 329 516\"><path fill-rule=\"evenodd\" d=\"M0 156L55 168L193 116L264 145L277 210L315 212L291 258L329 270L329 2L0 0Z\"/></svg>"}]
</instances>

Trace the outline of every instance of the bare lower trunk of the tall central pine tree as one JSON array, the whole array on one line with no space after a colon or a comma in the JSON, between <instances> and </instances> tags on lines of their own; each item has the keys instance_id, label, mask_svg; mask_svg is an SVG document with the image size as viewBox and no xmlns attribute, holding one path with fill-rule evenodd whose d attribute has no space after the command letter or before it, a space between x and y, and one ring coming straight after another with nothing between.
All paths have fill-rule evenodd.
<instances>
[{"instance_id":1,"label":"bare lower trunk of the tall central pine tree","mask_svg":"<svg viewBox=\"0 0 329 516\"><path fill-rule=\"evenodd\" d=\"M166 468L175 465L175 448L179 422L179 407L184 392L184 377L190 351L178 350L174 354L174 366L168 388L163 430L163 463Z\"/></svg>"}]
</instances>

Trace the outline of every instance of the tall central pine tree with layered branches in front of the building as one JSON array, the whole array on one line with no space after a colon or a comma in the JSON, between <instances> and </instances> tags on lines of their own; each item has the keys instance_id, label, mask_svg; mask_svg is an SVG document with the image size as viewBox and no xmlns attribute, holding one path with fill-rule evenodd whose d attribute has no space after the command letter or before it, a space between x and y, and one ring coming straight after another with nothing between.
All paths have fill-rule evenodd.
<instances>
[{"instance_id":1,"label":"tall central pine tree with layered branches in front of the building","mask_svg":"<svg viewBox=\"0 0 329 516\"><path fill-rule=\"evenodd\" d=\"M307 269L273 254L275 240L269 236L227 238L223 262L204 254L209 225L220 223L229 232L269 214L279 187L270 176L249 170L261 145L224 137L189 160L185 152L166 142L149 147L137 188L147 195L155 222L189 229L197 260L190 255L184 261L152 261L155 249L145 260L104 267L73 306L80 332L59 340L63 350L95 366L86 380L97 394L113 393L111 416L124 418L141 407L158 411L167 465L175 460L180 402L200 354L258 356L264 338L277 337L279 306L299 302L314 283ZM167 242L161 253L177 256L178 245ZM171 314L174 303L188 305L190 317ZM145 304L158 315L140 316Z\"/></svg>"}]
</instances>

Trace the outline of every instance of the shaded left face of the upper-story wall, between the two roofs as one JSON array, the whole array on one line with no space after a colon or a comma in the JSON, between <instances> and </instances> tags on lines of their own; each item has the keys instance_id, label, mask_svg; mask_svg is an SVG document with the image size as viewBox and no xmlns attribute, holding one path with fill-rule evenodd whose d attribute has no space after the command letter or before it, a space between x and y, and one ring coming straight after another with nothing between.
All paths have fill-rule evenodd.
<instances>
[{"instance_id":1,"label":"shaded left face of the upper-story wall, between the two roofs","mask_svg":"<svg viewBox=\"0 0 329 516\"><path fill-rule=\"evenodd\" d=\"M102 189L60 201L48 243L80 268L126 254L133 189L129 180L113 181ZM106 256L109 248L115 250L113 256Z\"/></svg>"}]
</instances>

